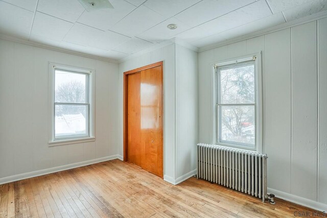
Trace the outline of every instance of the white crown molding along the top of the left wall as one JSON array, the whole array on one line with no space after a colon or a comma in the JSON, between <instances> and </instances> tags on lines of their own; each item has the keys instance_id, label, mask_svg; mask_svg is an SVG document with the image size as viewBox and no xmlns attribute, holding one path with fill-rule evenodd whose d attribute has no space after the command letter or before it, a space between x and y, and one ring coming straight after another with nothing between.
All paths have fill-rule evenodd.
<instances>
[{"instance_id":1,"label":"white crown molding along the top of the left wall","mask_svg":"<svg viewBox=\"0 0 327 218\"><path fill-rule=\"evenodd\" d=\"M110 62L110 63L118 63L118 60L113 60L113 59L105 58L105 57L101 57L101 56L90 55L90 54L86 54L86 53L82 53L82 52L75 52L72 50L62 49L61 47L47 45L47 44L43 44L43 43L39 43L39 42L33 42L33 41L9 36L9 35L2 34L2 33L0 33L0 39L17 42L17 43L21 43L21 44L26 44L26 45L31 45L31 46L35 46L35 47L40 47L41 49L48 49L48 50L52 50L52 51L56 51L56 52L62 52L62 53L66 53L69 55L76 55L76 56L81 56L81 57L85 57L85 58L106 61L106 62Z\"/></svg>"}]
</instances>

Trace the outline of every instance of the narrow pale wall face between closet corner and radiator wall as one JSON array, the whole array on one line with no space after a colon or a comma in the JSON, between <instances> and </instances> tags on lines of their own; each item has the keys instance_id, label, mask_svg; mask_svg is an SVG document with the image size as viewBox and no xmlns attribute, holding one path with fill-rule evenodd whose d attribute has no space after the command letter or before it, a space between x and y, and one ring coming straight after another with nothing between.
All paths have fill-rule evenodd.
<instances>
[{"instance_id":1,"label":"narrow pale wall face between closet corner and radiator wall","mask_svg":"<svg viewBox=\"0 0 327 218\"><path fill-rule=\"evenodd\" d=\"M177 182L197 167L198 53L176 44L176 151ZM192 174L191 173L191 174Z\"/></svg>"}]
</instances>

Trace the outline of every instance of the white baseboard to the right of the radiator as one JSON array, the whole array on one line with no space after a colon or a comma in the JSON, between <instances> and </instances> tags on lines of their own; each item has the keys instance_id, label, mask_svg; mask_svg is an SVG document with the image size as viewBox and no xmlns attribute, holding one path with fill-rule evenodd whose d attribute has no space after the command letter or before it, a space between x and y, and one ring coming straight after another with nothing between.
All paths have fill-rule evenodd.
<instances>
[{"instance_id":1,"label":"white baseboard to the right of the radiator","mask_svg":"<svg viewBox=\"0 0 327 218\"><path fill-rule=\"evenodd\" d=\"M319 211L327 211L327 204L323 204L323 203L316 202L316 201L313 201L313 200L310 200L310 199L295 196L295 195L292 195L290 193L286 193L286 192L283 192L283 191L278 191L278 190L275 190L275 189L272 189L272 188L268 188L268 193L273 193L276 196L276 198L280 198L280 199L283 199L285 201L290 201L290 202L293 202L295 204L310 207L312 209L319 210Z\"/></svg>"}]
</instances>

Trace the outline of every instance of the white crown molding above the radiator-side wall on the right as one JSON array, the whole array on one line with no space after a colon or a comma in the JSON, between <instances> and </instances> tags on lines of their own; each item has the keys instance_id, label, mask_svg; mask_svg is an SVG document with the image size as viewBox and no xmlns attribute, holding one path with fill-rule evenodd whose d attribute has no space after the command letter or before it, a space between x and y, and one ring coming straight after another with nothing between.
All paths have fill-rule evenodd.
<instances>
[{"instance_id":1,"label":"white crown molding above the radiator-side wall on the right","mask_svg":"<svg viewBox=\"0 0 327 218\"><path fill-rule=\"evenodd\" d=\"M301 25L303 23L315 21L315 20L318 20L318 19L321 19L321 18L324 18L324 17L327 17L327 11L322 11L322 12L319 12L319 13L315 13L315 14L312 14L312 15L309 15L309 16L306 16L306 17L302 17L302 18L299 18L299 19L296 19L296 20L292 20L292 21L287 22L287 23L282 23L281 25L277 25L277 26L274 26L274 27L271 27L271 28L267 28L267 29L264 29L264 30L249 33L249 34L246 34L246 35L243 35L243 36L240 36L240 37L236 37L236 38L228 39L228 40L225 40L225 41L217 42L217 43L214 43L214 44L202 46L202 47L199 48L199 52L204 52L204 51L207 51L207 50L215 49L216 47L220 47L220 46L223 46L223 45L243 41L243 40L258 37L258 36L262 36L262 35L265 35L265 34L268 34L268 33L273 33L273 32L279 31L279 30L288 29L288 28L298 26L298 25Z\"/></svg>"}]
</instances>

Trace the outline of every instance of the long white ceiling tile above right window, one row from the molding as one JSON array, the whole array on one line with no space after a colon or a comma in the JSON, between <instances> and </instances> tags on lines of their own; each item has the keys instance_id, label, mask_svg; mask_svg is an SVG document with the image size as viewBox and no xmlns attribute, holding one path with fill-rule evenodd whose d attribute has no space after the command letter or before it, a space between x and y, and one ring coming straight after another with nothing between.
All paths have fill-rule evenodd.
<instances>
[{"instance_id":1,"label":"long white ceiling tile above right window, one row from the molding","mask_svg":"<svg viewBox=\"0 0 327 218\"><path fill-rule=\"evenodd\" d=\"M208 21L200 25L200 27L206 29L208 35L215 34L241 25L245 25L246 23L267 17L271 14L272 13L265 0L260 0L225 14L221 17Z\"/></svg>"}]
</instances>

